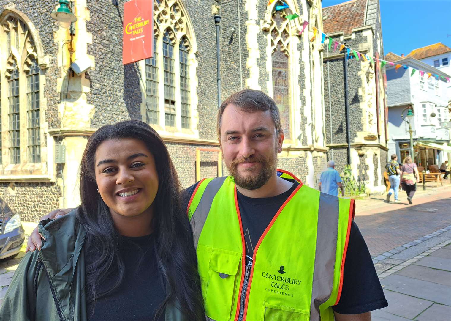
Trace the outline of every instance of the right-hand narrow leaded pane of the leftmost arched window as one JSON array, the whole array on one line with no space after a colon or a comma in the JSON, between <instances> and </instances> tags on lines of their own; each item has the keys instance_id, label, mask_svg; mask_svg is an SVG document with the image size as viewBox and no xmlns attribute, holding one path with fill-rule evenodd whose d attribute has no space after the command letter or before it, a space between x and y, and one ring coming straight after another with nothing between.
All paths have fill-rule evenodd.
<instances>
[{"instance_id":1,"label":"right-hand narrow leaded pane of the leftmost arched window","mask_svg":"<svg viewBox=\"0 0 451 321\"><path fill-rule=\"evenodd\" d=\"M40 108L39 108L39 66L36 60L27 73L27 118L28 118L28 162L41 162Z\"/></svg>"}]
</instances>

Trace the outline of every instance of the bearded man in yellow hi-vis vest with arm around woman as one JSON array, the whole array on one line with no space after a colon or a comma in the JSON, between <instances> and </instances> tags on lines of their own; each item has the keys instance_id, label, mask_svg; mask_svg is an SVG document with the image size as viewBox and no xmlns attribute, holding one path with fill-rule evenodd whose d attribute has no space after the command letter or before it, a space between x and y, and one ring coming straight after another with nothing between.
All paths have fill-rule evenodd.
<instances>
[{"instance_id":1,"label":"bearded man in yellow hi-vis vest with arm around woman","mask_svg":"<svg viewBox=\"0 0 451 321\"><path fill-rule=\"evenodd\" d=\"M276 168L284 133L272 98L251 89L232 94L217 131L231 175L182 192L207 319L366 321L386 307L354 200ZM33 231L29 246L36 241Z\"/></svg>"}]
</instances>

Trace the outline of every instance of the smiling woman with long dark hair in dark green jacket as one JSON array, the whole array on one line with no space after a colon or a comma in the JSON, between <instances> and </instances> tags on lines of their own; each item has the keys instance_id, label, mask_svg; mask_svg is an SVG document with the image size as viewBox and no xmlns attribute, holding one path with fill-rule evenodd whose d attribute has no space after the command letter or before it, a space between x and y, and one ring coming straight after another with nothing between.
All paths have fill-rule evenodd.
<instances>
[{"instance_id":1,"label":"smiling woman with long dark hair in dark green jacket","mask_svg":"<svg viewBox=\"0 0 451 321\"><path fill-rule=\"evenodd\" d=\"M44 244L19 264L1 320L201 320L193 235L156 131L141 121L98 129L80 194L73 212L41 221Z\"/></svg>"}]
</instances>

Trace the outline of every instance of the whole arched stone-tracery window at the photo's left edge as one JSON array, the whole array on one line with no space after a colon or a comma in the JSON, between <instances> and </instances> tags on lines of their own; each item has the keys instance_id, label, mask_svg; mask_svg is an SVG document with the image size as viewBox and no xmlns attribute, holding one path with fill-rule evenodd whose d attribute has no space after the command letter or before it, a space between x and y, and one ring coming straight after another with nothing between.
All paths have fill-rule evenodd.
<instances>
[{"instance_id":1,"label":"whole arched stone-tracery window at the photo's left edge","mask_svg":"<svg viewBox=\"0 0 451 321\"><path fill-rule=\"evenodd\" d=\"M5 116L8 116L8 130L4 133L8 135L8 146L2 147L8 150L10 164L40 163L41 82L36 44L27 24L15 14L2 19L0 37L6 38L6 46L2 47L7 50L3 56L6 59L3 58L2 65L5 66L3 76L8 88L4 93L7 102L0 100L2 107L7 109ZM22 131L21 123L26 124Z\"/></svg>"}]
</instances>

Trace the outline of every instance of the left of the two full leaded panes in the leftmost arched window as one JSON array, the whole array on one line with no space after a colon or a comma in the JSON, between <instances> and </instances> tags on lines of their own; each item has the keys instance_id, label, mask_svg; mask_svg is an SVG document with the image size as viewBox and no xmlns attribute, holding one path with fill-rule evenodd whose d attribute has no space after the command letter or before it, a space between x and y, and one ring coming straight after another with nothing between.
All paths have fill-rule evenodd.
<instances>
[{"instance_id":1,"label":"left of the two full leaded panes in the leftmost arched window","mask_svg":"<svg viewBox=\"0 0 451 321\"><path fill-rule=\"evenodd\" d=\"M20 163L19 70L13 64L9 83L9 161Z\"/></svg>"}]
</instances>

